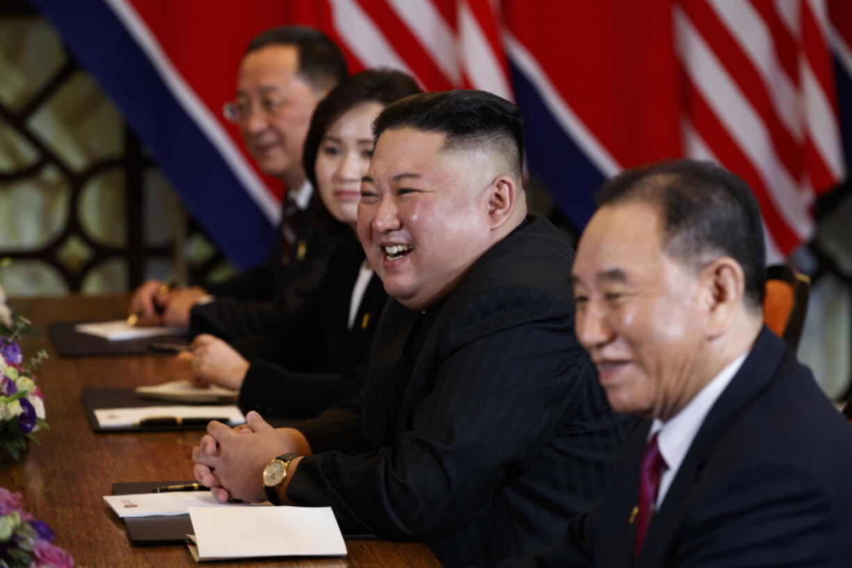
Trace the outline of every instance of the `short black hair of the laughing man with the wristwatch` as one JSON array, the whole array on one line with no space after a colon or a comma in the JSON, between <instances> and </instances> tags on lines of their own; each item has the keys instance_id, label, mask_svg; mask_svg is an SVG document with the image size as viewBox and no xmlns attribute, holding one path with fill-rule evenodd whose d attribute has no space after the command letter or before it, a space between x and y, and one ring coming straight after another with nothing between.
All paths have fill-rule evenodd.
<instances>
[{"instance_id":1,"label":"short black hair of the laughing man with the wristwatch","mask_svg":"<svg viewBox=\"0 0 852 568\"><path fill-rule=\"evenodd\" d=\"M446 90L407 96L390 104L373 125L373 136L385 130L412 128L446 135L445 148L491 146L505 155L521 177L524 135L521 111L513 103L484 90Z\"/></svg>"}]
</instances>

